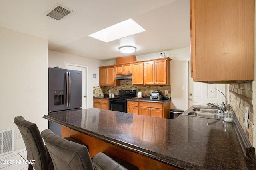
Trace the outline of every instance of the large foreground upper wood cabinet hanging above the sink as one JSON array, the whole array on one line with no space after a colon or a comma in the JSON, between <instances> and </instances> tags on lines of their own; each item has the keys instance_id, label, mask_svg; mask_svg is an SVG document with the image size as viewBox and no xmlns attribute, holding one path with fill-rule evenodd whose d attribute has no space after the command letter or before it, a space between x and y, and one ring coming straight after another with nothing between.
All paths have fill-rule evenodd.
<instances>
[{"instance_id":1,"label":"large foreground upper wood cabinet hanging above the sink","mask_svg":"<svg viewBox=\"0 0 256 170\"><path fill-rule=\"evenodd\" d=\"M254 79L254 0L190 0L194 81Z\"/></svg>"}]
</instances>

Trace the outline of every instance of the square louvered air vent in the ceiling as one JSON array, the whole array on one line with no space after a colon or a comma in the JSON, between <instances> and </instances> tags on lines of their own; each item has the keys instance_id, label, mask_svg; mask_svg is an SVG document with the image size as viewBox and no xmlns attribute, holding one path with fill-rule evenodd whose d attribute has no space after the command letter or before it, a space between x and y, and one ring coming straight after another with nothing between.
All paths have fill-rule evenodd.
<instances>
[{"instance_id":1,"label":"square louvered air vent in the ceiling","mask_svg":"<svg viewBox=\"0 0 256 170\"><path fill-rule=\"evenodd\" d=\"M64 16L68 15L69 13L74 12L60 4L56 4L53 6L50 10L48 10L46 13L47 16L52 17L56 20L62 19Z\"/></svg>"}]
</instances>

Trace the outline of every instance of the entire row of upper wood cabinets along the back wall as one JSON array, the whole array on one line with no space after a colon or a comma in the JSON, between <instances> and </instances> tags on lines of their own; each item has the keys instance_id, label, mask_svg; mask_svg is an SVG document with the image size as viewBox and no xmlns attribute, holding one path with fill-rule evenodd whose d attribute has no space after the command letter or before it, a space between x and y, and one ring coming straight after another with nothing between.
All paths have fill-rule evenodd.
<instances>
[{"instance_id":1,"label":"entire row of upper wood cabinets along the back wall","mask_svg":"<svg viewBox=\"0 0 256 170\"><path fill-rule=\"evenodd\" d=\"M116 75L132 74L133 85L170 85L169 57L145 61L136 61L127 64L101 66L100 86L120 86Z\"/></svg>"}]
</instances>

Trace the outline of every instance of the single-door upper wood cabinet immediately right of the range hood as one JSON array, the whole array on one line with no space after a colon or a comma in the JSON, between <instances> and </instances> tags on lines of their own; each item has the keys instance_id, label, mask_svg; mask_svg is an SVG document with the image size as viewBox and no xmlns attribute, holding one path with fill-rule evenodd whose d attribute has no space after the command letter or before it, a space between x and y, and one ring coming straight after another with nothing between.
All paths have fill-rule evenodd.
<instances>
[{"instance_id":1,"label":"single-door upper wood cabinet immediately right of the range hood","mask_svg":"<svg viewBox=\"0 0 256 170\"><path fill-rule=\"evenodd\" d=\"M132 64L132 85L143 85L143 62Z\"/></svg>"}]
</instances>

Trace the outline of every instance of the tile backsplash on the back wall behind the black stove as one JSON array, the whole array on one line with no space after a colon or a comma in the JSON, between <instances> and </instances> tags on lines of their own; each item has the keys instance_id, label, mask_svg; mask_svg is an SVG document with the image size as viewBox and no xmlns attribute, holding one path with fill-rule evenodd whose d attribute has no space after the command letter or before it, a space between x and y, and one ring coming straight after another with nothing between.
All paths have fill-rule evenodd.
<instances>
[{"instance_id":1,"label":"tile backsplash on the back wall behind the black stove","mask_svg":"<svg viewBox=\"0 0 256 170\"><path fill-rule=\"evenodd\" d=\"M171 86L166 85L153 85L153 86L144 86L144 85L132 85L132 80L121 80L120 86L93 86L93 96L100 97L104 96L105 94L109 94L109 90L111 93L118 95L119 89L132 89L137 90L137 92L142 92L142 96L150 96L150 90L153 91L160 91L164 94L165 90L168 90L168 97L171 96ZM166 95L164 95L166 96Z\"/></svg>"}]
</instances>

